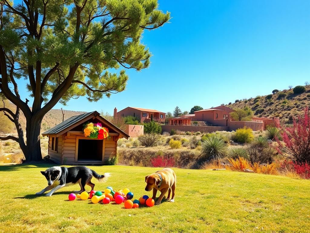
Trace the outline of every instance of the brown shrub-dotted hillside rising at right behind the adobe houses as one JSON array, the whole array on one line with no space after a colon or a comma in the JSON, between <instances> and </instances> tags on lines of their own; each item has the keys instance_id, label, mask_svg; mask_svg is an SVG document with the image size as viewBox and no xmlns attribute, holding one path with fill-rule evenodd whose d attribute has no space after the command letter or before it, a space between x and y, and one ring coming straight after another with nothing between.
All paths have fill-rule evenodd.
<instances>
[{"instance_id":1,"label":"brown shrub-dotted hillside rising at right behind the adobe houses","mask_svg":"<svg viewBox=\"0 0 310 233\"><path fill-rule=\"evenodd\" d=\"M280 117L281 123L291 123L292 117L301 115L303 109L310 105L310 86L305 88L306 92L301 94L294 94L293 89L282 90L272 96L257 96L226 106L233 109L249 107L257 117ZM285 93L285 97L281 97L284 94L280 93Z\"/></svg>"}]
</instances>

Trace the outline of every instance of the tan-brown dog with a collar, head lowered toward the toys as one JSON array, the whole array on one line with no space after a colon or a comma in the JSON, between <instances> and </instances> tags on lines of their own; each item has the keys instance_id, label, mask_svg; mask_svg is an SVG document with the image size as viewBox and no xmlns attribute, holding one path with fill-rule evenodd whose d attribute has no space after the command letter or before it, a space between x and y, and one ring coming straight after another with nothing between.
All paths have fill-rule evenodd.
<instances>
[{"instance_id":1,"label":"tan-brown dog with a collar, head lowered toward the toys","mask_svg":"<svg viewBox=\"0 0 310 233\"><path fill-rule=\"evenodd\" d=\"M175 172L170 168L164 168L161 171L156 171L155 173L145 176L146 187L145 191L151 191L153 189L153 199L155 200L157 190L161 191L161 194L155 205L159 205L162 202L163 197L168 191L167 200L174 202L175 187L176 187L176 175ZM170 199L170 194L172 196Z\"/></svg>"}]
</instances>

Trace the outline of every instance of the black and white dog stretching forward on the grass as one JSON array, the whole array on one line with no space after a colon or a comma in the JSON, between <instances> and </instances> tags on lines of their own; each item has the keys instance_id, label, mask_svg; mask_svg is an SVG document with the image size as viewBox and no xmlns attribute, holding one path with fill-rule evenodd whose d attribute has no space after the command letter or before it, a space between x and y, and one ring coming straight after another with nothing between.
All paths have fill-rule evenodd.
<instances>
[{"instance_id":1,"label":"black and white dog stretching forward on the grass","mask_svg":"<svg viewBox=\"0 0 310 233\"><path fill-rule=\"evenodd\" d=\"M91 183L93 176L99 181L110 176L110 173L104 173L104 175L100 176L97 172L82 166L50 167L46 171L41 171L41 173L46 177L48 186L41 192L36 193L36 195L41 195L51 190L45 195L47 197L50 197L55 191L64 186L74 185L76 183L81 186L81 190L74 191L74 193L80 194L85 191L85 185L91 186L91 190L94 190L95 184Z\"/></svg>"}]
</instances>

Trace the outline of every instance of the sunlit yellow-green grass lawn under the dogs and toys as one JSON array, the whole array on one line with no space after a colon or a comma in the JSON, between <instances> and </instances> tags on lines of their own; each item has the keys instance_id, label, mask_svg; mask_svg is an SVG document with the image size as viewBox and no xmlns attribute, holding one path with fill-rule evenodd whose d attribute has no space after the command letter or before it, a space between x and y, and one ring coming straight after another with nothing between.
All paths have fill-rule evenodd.
<instances>
[{"instance_id":1,"label":"sunlit yellow-green grass lawn under the dogs and toys","mask_svg":"<svg viewBox=\"0 0 310 233\"><path fill-rule=\"evenodd\" d=\"M175 203L124 209L67 201L79 185L36 196L52 164L0 166L0 232L309 232L310 180L231 171L175 169ZM106 186L129 188L139 199L149 167L89 166L111 172ZM89 186L87 186L88 189ZM158 194L157 194L158 196Z\"/></svg>"}]
</instances>

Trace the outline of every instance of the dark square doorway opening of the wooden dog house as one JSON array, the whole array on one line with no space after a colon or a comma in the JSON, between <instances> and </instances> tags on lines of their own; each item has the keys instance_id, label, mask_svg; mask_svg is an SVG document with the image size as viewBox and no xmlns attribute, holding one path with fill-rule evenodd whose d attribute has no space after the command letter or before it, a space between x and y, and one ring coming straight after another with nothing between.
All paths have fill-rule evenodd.
<instances>
[{"instance_id":1,"label":"dark square doorway opening of the wooden dog house","mask_svg":"<svg viewBox=\"0 0 310 233\"><path fill-rule=\"evenodd\" d=\"M78 139L78 161L102 161L103 140Z\"/></svg>"}]
</instances>

